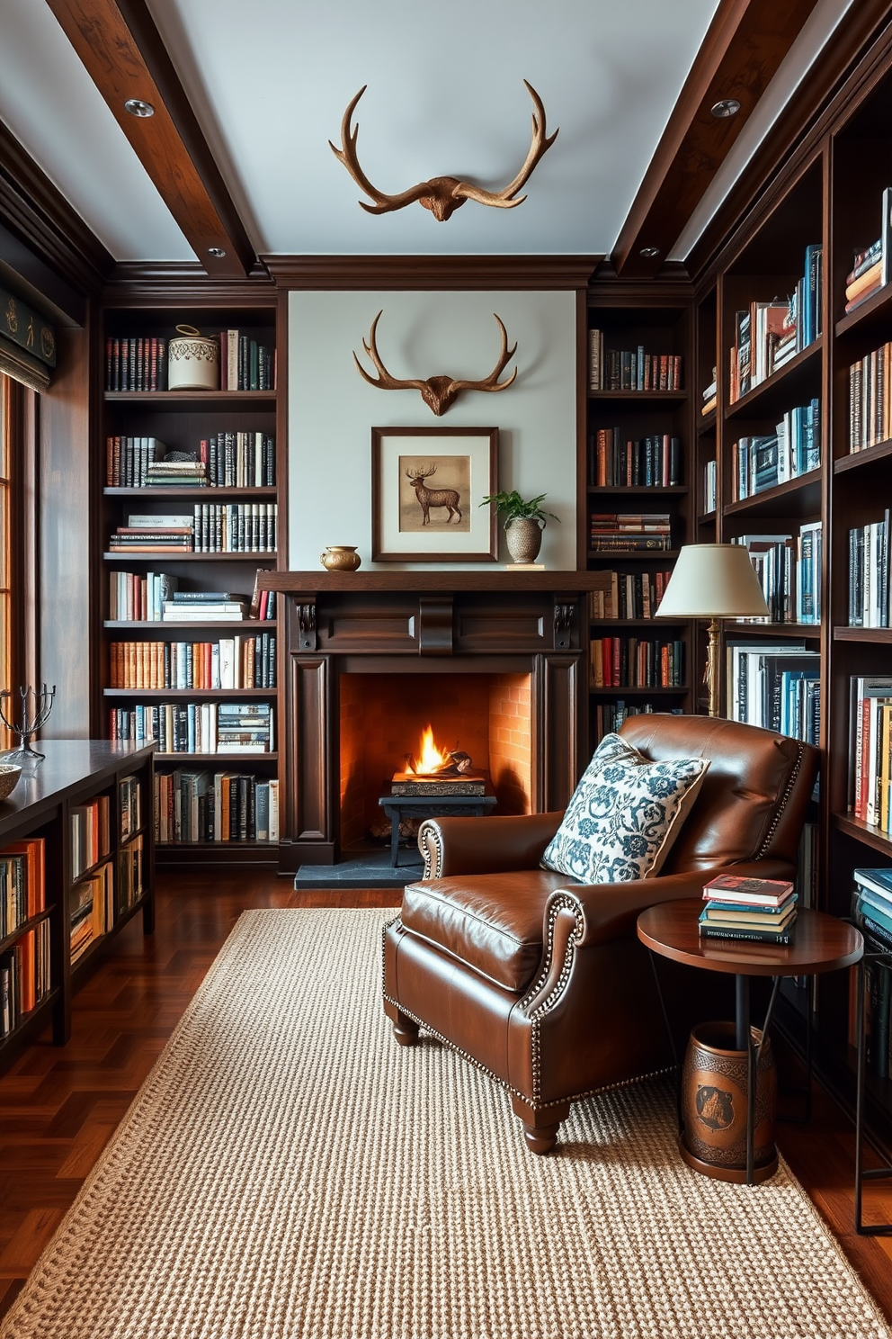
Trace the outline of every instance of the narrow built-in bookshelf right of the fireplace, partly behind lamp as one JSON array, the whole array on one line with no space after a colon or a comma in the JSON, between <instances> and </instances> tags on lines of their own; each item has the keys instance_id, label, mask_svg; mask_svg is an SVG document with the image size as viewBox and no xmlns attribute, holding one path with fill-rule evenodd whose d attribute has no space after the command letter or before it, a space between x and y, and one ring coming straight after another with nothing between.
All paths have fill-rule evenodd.
<instances>
[{"instance_id":1,"label":"narrow built-in bookshelf right of the fireplace, partly behind lamp","mask_svg":"<svg viewBox=\"0 0 892 1339\"><path fill-rule=\"evenodd\" d=\"M592 592L590 605L592 747L623 714L693 708L690 623L653 617L678 549L693 533L691 347L689 289L650 284L629 292L610 277L595 280L587 309L582 534L584 565L604 581L602 599ZM670 383L662 388L661 374ZM646 532L630 541L642 546L629 549L622 534L592 536L608 530L604 518L612 516L627 518L618 522L626 528L635 517L642 526L667 517L669 536L650 534L666 548L643 548Z\"/></svg>"}]
</instances>

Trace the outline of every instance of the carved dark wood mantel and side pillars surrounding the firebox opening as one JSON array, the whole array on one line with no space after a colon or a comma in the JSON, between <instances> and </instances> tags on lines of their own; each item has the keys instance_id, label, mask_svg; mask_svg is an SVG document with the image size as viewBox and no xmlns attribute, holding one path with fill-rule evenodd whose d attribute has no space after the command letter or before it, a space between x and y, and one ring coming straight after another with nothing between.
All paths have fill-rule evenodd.
<instances>
[{"instance_id":1,"label":"carved dark wood mantel and side pillars surrounding the firebox opening","mask_svg":"<svg viewBox=\"0 0 892 1339\"><path fill-rule=\"evenodd\" d=\"M587 738L592 572L266 572L284 688L280 869L328 864L340 841L344 675L530 676L535 810L566 806Z\"/></svg>"}]
</instances>

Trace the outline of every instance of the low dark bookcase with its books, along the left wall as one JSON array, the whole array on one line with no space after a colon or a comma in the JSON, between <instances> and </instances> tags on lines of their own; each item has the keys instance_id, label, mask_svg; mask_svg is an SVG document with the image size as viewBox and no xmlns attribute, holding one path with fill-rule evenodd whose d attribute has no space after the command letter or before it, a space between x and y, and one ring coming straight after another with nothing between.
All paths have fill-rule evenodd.
<instances>
[{"instance_id":1,"label":"low dark bookcase with its books, along the left wall","mask_svg":"<svg viewBox=\"0 0 892 1339\"><path fill-rule=\"evenodd\" d=\"M12 1000L0 1010L0 1070L49 1022L66 1042L74 988L138 912L146 933L154 927L151 746L48 739L40 750L0 815L0 865L25 865L24 915L0 937Z\"/></svg>"}]
</instances>

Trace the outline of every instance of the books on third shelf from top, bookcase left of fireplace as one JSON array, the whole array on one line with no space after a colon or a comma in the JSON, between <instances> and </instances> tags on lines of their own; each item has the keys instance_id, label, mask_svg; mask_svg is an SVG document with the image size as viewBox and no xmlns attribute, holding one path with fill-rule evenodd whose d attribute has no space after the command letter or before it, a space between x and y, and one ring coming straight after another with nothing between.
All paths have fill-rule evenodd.
<instances>
[{"instance_id":1,"label":"books on third shelf from top, bookcase left of fireplace","mask_svg":"<svg viewBox=\"0 0 892 1339\"><path fill-rule=\"evenodd\" d=\"M108 540L111 553L274 553L275 502L199 502L194 513L138 514Z\"/></svg>"}]
</instances>

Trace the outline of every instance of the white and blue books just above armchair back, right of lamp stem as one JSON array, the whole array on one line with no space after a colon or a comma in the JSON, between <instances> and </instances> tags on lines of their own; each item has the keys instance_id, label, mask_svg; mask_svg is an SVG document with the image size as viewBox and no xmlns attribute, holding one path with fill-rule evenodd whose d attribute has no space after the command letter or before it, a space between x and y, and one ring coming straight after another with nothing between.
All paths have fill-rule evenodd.
<instances>
[{"instance_id":1,"label":"white and blue books just above armchair back, right of lamp stem","mask_svg":"<svg viewBox=\"0 0 892 1339\"><path fill-rule=\"evenodd\" d=\"M729 641L728 716L818 744L821 656L802 643Z\"/></svg>"}]
</instances>

